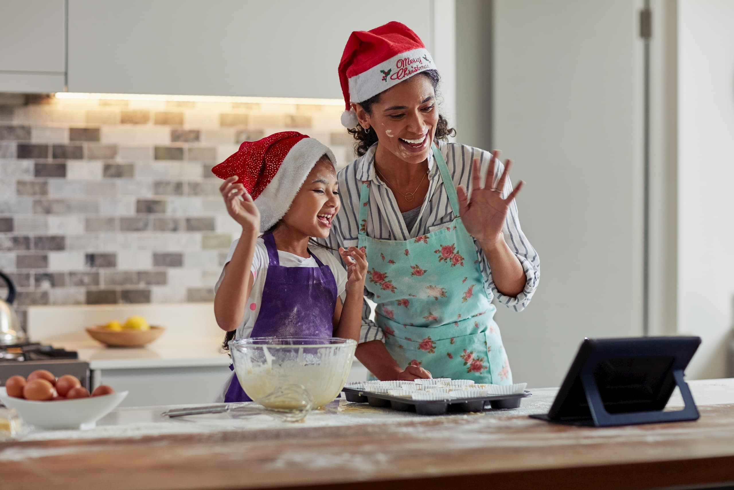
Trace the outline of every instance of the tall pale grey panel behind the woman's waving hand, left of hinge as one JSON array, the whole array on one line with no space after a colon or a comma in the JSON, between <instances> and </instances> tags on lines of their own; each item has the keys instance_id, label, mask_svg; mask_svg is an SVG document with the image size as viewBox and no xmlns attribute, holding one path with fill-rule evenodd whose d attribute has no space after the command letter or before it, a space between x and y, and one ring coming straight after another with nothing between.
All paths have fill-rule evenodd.
<instances>
[{"instance_id":1,"label":"tall pale grey panel behind the woman's waving hand, left of hinge","mask_svg":"<svg viewBox=\"0 0 734 490\"><path fill-rule=\"evenodd\" d=\"M642 334L641 7L495 1L493 145L527 181L541 264L528 309L497 321L531 386L559 386L584 336Z\"/></svg>"}]
</instances>

